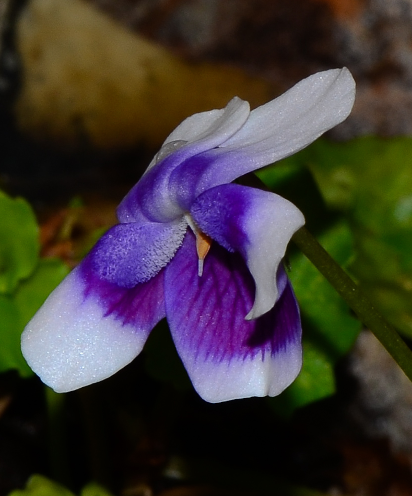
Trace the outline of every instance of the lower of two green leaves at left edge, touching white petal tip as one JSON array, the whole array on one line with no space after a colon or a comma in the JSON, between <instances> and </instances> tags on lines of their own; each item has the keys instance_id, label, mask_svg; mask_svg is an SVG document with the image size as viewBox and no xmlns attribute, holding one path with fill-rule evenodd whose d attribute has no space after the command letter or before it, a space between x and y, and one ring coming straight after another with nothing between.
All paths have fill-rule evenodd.
<instances>
[{"instance_id":1,"label":"lower of two green leaves at left edge, touching white petal tip","mask_svg":"<svg viewBox=\"0 0 412 496\"><path fill-rule=\"evenodd\" d=\"M41 259L13 295L0 295L0 372L16 369L23 377L33 373L21 354L20 335L67 272L60 260Z\"/></svg>"}]
</instances>

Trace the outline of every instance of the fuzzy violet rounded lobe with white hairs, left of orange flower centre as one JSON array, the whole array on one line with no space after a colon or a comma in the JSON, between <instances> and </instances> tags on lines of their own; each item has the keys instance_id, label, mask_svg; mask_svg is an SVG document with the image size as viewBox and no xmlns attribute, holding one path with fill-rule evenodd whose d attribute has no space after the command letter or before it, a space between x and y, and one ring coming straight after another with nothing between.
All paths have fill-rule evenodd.
<instances>
[{"instance_id":1,"label":"fuzzy violet rounded lobe with white hairs, left of orange flower centre","mask_svg":"<svg viewBox=\"0 0 412 496\"><path fill-rule=\"evenodd\" d=\"M100 279L132 288L154 277L170 261L186 229L184 218L164 224L117 224L92 248L88 263Z\"/></svg>"}]
</instances>

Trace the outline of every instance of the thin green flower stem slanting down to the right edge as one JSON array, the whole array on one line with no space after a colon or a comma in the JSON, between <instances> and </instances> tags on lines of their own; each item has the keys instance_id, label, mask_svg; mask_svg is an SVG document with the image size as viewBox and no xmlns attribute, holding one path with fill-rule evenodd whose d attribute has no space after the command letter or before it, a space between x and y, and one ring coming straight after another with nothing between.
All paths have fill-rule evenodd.
<instances>
[{"instance_id":1,"label":"thin green flower stem slanting down to the right edge","mask_svg":"<svg viewBox=\"0 0 412 496\"><path fill-rule=\"evenodd\" d=\"M292 240L346 301L361 322L379 339L412 381L412 351L397 331L376 310L360 287L319 245L305 227L297 231Z\"/></svg>"}]
</instances>

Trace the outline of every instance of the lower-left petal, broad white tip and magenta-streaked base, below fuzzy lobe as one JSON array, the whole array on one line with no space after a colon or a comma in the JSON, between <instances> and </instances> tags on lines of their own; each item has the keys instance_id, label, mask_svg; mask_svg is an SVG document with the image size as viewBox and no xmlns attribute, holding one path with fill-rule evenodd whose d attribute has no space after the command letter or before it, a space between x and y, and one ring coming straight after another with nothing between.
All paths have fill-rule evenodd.
<instances>
[{"instance_id":1,"label":"lower-left petal, broad white tip and magenta-streaked base, below fuzzy lobe","mask_svg":"<svg viewBox=\"0 0 412 496\"><path fill-rule=\"evenodd\" d=\"M86 259L27 324L21 349L31 369L61 393L125 367L165 316L163 273L135 288L119 288L99 280Z\"/></svg>"}]
</instances>

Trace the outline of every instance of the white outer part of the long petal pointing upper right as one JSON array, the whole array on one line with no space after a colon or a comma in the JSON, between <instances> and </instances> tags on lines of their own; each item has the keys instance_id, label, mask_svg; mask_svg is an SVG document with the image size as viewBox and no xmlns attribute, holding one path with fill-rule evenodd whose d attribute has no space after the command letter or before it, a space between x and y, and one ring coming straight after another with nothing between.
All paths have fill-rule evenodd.
<instances>
[{"instance_id":1,"label":"white outer part of the long petal pointing upper right","mask_svg":"<svg viewBox=\"0 0 412 496\"><path fill-rule=\"evenodd\" d=\"M263 165L270 164L344 121L354 101L355 81L346 67L318 72L253 110L245 125L221 146L248 148Z\"/></svg>"}]
</instances>

